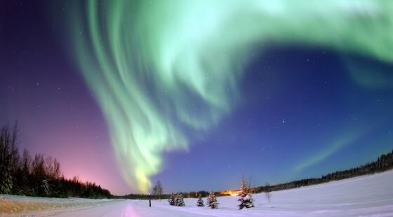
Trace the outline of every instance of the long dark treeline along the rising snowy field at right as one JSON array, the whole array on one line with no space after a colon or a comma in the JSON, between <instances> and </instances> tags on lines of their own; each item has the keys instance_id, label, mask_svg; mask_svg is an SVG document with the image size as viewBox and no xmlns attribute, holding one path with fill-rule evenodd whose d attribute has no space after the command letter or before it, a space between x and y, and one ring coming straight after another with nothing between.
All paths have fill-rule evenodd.
<instances>
[{"instance_id":1,"label":"long dark treeline along the rising snowy field at right","mask_svg":"<svg viewBox=\"0 0 393 217\"><path fill-rule=\"evenodd\" d=\"M380 155L380 157L374 162L370 162L366 165L361 165L360 167L333 172L321 176L320 178L302 179L298 181L291 181L288 183L281 183L274 186L260 186L257 188L252 188L251 192L262 193L262 192L266 192L267 190L276 191L276 190L286 190L290 188L299 188L302 186L311 186L320 183L327 183L329 181L348 179L355 176L374 174L376 172L385 172L389 169L393 169L393 151L384 155Z\"/></svg>"}]
</instances>

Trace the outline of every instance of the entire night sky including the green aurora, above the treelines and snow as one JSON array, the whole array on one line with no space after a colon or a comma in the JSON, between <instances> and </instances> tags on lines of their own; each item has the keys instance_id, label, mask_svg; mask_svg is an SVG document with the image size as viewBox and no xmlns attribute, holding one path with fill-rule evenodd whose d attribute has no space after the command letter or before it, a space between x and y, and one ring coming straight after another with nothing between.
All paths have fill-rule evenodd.
<instances>
[{"instance_id":1,"label":"entire night sky including the green aurora, above the treelines and snow","mask_svg":"<svg viewBox=\"0 0 393 217\"><path fill-rule=\"evenodd\" d=\"M112 193L238 188L393 148L385 1L0 1L0 124Z\"/></svg>"}]
</instances>

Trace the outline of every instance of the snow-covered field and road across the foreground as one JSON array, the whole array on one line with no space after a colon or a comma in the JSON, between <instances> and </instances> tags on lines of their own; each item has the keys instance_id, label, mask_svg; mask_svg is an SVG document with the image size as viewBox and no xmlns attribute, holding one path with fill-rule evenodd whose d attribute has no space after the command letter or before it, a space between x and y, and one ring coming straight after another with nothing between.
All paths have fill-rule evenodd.
<instances>
[{"instance_id":1,"label":"snow-covered field and road across the foreground","mask_svg":"<svg viewBox=\"0 0 393 217\"><path fill-rule=\"evenodd\" d=\"M255 207L237 209L237 197L218 197L219 209L171 207L166 200L48 199L2 195L0 216L393 216L393 171L317 186L253 195ZM206 198L204 198L206 202ZM7 214L5 214L7 213ZM13 213L13 214L11 214Z\"/></svg>"}]
</instances>

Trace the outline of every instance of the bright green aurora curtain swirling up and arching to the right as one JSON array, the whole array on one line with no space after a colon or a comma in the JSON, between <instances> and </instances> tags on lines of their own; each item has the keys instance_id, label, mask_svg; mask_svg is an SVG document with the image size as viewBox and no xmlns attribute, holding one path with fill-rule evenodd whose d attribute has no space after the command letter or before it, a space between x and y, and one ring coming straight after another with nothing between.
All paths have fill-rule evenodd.
<instances>
[{"instance_id":1,"label":"bright green aurora curtain swirling up and arching to the right","mask_svg":"<svg viewBox=\"0 0 393 217\"><path fill-rule=\"evenodd\" d=\"M107 120L124 179L144 193L162 153L187 150L184 129L203 134L232 111L244 67L272 43L393 61L391 1L81 2L68 11L69 46ZM373 71L357 76L348 66L354 81L375 86Z\"/></svg>"}]
</instances>

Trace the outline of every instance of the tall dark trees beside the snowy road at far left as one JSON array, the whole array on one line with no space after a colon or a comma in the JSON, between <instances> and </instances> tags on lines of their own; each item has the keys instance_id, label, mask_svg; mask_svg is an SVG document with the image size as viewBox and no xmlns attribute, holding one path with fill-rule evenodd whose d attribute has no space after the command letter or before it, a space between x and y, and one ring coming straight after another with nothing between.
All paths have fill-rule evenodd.
<instances>
[{"instance_id":1,"label":"tall dark trees beside the snowy road at far left","mask_svg":"<svg viewBox=\"0 0 393 217\"><path fill-rule=\"evenodd\" d=\"M109 190L77 177L65 179L56 158L18 151L18 128L0 129L0 194L37 197L112 197Z\"/></svg>"}]
</instances>

